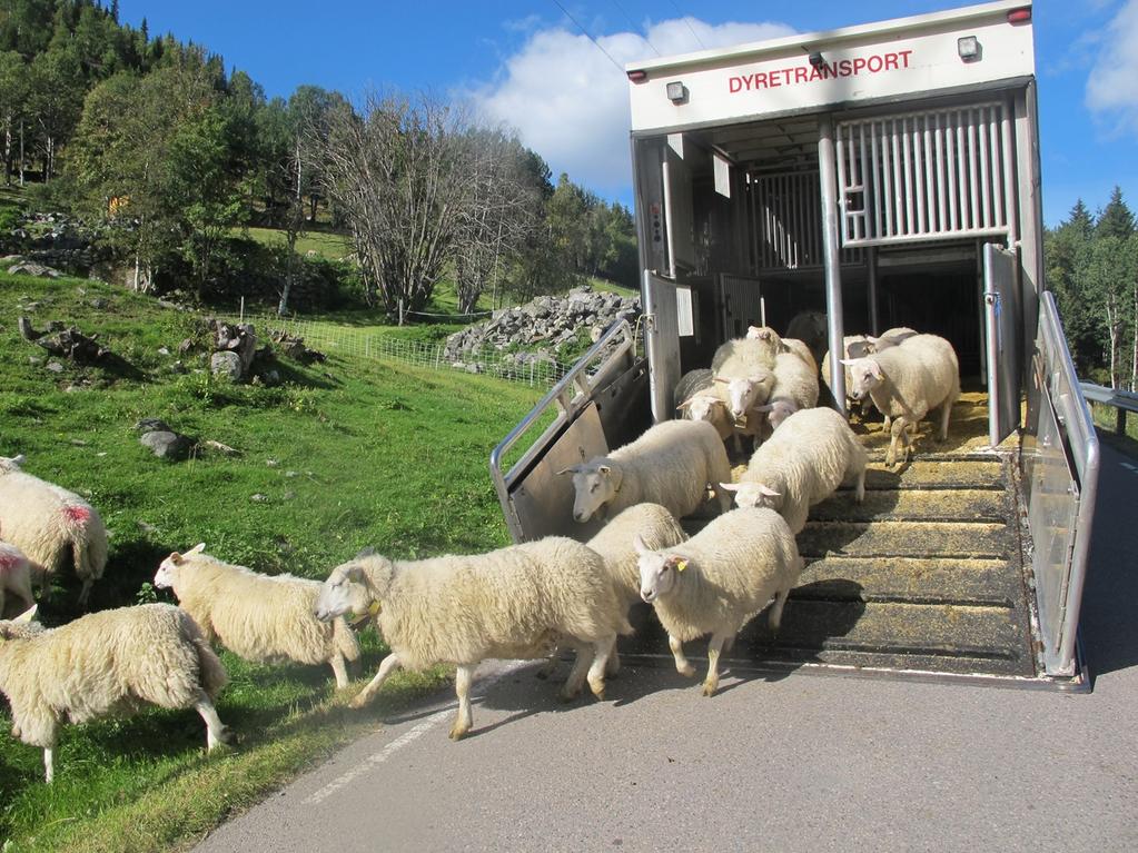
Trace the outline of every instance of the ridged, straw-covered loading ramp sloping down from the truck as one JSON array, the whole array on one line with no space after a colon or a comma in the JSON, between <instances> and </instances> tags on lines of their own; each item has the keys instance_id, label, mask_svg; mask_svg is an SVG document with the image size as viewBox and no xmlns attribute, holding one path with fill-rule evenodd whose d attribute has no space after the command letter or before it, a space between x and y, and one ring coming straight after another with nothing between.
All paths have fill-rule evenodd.
<instances>
[{"instance_id":1,"label":"ridged, straw-covered loading ramp sloping down from the truck","mask_svg":"<svg viewBox=\"0 0 1138 853\"><path fill-rule=\"evenodd\" d=\"M822 665L1034 679L1016 448L982 449L986 405L981 394L962 398L943 445L925 422L916 461L892 471L881 424L856 425L871 450L865 502L842 489L811 510L798 536L806 571L781 630L772 635L760 614L724 663L736 671ZM667 639L646 608L634 623L626 656L669 664ZM706 645L685 651L698 659Z\"/></svg>"}]
</instances>

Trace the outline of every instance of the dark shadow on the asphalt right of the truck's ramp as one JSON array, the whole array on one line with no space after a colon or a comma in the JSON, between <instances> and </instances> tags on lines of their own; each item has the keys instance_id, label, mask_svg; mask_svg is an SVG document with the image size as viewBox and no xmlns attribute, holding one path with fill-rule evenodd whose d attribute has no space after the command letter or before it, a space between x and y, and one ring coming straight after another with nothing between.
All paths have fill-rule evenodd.
<instances>
[{"instance_id":1,"label":"dark shadow on the asphalt right of the truck's ramp","mask_svg":"<svg viewBox=\"0 0 1138 853\"><path fill-rule=\"evenodd\" d=\"M1102 440L1099 447L1090 565L1079 616L1091 678L1138 664L1138 622L1133 618L1138 602L1138 458L1120 453L1111 440Z\"/></svg>"}]
</instances>

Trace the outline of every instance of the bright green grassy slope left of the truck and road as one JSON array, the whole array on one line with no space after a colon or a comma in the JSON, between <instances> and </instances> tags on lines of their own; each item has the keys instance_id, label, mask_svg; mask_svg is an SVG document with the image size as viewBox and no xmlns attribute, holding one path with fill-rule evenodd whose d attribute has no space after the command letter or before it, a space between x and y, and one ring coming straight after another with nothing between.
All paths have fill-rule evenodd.
<instances>
[{"instance_id":1,"label":"bright green grassy slope left of the truck and road","mask_svg":"<svg viewBox=\"0 0 1138 853\"><path fill-rule=\"evenodd\" d=\"M49 371L46 350L16 331L22 314L38 329L59 320L98 332L133 371ZM162 557L198 541L229 562L315 578L365 545L409 557L508 541L486 459L539 389L337 356L280 364L278 387L234 387L198 372L204 348L181 356L189 373L174 372L185 338L208 338L191 313L98 283L0 274L0 455L25 454L25 470L102 514L112 550L96 608L146 597ZM238 454L160 461L138 442L143 417ZM71 578L53 588L44 621L74 618L76 591ZM363 640L366 676L384 649L371 631ZM223 755L204 755L192 710L155 709L67 727L49 787L41 751L8 734L0 705L5 850L176 846L445 679L393 679L377 710L360 713L327 668L223 660L232 684L218 712L239 738Z\"/></svg>"}]
</instances>

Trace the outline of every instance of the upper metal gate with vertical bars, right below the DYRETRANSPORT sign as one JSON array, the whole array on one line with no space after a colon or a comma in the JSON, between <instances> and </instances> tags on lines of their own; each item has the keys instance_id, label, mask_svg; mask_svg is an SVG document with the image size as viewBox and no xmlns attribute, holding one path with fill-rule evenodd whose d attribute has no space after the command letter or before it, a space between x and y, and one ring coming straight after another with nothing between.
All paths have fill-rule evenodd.
<instances>
[{"instance_id":1,"label":"upper metal gate with vertical bars, right below the DYRETRANSPORT sign","mask_svg":"<svg viewBox=\"0 0 1138 853\"><path fill-rule=\"evenodd\" d=\"M1009 133L999 102L839 122L842 245L1006 234Z\"/></svg>"}]
</instances>

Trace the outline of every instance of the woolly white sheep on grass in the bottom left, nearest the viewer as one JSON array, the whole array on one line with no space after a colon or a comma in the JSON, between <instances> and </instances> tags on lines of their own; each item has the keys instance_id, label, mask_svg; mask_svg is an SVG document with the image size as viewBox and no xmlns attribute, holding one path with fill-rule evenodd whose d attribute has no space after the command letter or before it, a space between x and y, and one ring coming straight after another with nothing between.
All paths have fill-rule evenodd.
<instances>
[{"instance_id":1,"label":"woolly white sheep on grass in the bottom left, nearest the viewer","mask_svg":"<svg viewBox=\"0 0 1138 853\"><path fill-rule=\"evenodd\" d=\"M206 747L229 739L213 699L229 681L198 627L172 604L105 610L44 629L32 607L0 622L0 690L11 704L13 735L43 748L47 781L65 721L86 722L150 703L192 707Z\"/></svg>"}]
</instances>

